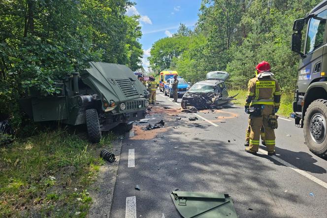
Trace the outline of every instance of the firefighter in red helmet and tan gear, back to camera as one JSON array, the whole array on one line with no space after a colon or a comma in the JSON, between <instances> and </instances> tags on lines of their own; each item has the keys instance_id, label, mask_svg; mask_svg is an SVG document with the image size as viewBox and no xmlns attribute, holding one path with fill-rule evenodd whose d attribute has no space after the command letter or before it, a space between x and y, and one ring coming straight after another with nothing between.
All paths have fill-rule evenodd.
<instances>
[{"instance_id":1,"label":"firefighter in red helmet and tan gear, back to camera","mask_svg":"<svg viewBox=\"0 0 327 218\"><path fill-rule=\"evenodd\" d=\"M248 95L245 103L245 112L250 113L249 123L251 126L250 145L245 151L257 154L260 143L260 129L264 127L265 144L268 155L275 154L274 127L270 125L269 117L275 114L280 106L280 87L278 81L270 73L268 62L262 61L256 67L255 78L249 80ZM249 107L251 105L251 110Z\"/></svg>"}]
</instances>

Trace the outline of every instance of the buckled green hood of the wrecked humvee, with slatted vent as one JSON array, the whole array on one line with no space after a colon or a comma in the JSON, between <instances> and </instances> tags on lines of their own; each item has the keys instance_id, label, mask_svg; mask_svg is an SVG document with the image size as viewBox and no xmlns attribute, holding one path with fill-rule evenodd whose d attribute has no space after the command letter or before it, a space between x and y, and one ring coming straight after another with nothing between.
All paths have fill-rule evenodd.
<instances>
[{"instance_id":1,"label":"buckled green hood of the wrecked humvee, with slatted vent","mask_svg":"<svg viewBox=\"0 0 327 218\"><path fill-rule=\"evenodd\" d=\"M90 68L81 73L82 80L98 96L116 103L144 96L145 87L125 65L89 62Z\"/></svg>"}]
</instances>

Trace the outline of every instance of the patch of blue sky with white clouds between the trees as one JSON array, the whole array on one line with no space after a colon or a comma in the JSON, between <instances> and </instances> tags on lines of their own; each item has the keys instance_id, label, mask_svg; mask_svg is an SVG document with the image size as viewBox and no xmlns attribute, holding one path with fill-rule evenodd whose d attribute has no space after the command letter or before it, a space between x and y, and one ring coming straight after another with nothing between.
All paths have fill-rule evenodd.
<instances>
[{"instance_id":1,"label":"patch of blue sky with white clouds between the trees","mask_svg":"<svg viewBox=\"0 0 327 218\"><path fill-rule=\"evenodd\" d=\"M140 39L144 50L143 67L148 69L152 44L160 38L174 34L180 23L193 29L201 0L134 0L136 5L127 15L140 15L143 36Z\"/></svg>"}]
</instances>

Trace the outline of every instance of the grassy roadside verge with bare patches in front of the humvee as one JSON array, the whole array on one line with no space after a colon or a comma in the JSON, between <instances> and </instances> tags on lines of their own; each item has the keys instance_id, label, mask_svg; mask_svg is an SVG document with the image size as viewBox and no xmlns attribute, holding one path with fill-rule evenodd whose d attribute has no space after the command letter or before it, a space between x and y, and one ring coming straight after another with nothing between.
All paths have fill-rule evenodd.
<instances>
[{"instance_id":1,"label":"grassy roadside verge with bare patches in front of the humvee","mask_svg":"<svg viewBox=\"0 0 327 218\"><path fill-rule=\"evenodd\" d=\"M90 144L84 135L44 131L0 146L0 217L86 217L104 164L97 149L113 137Z\"/></svg>"}]
</instances>

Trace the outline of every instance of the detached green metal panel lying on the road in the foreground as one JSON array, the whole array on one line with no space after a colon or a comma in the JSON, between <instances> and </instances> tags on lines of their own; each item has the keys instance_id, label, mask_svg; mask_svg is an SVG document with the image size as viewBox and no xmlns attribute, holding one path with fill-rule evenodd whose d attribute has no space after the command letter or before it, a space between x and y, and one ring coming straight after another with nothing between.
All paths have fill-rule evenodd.
<instances>
[{"instance_id":1,"label":"detached green metal panel lying on the road in the foreground","mask_svg":"<svg viewBox=\"0 0 327 218\"><path fill-rule=\"evenodd\" d=\"M237 218L228 194L173 191L170 196L183 218Z\"/></svg>"}]
</instances>

